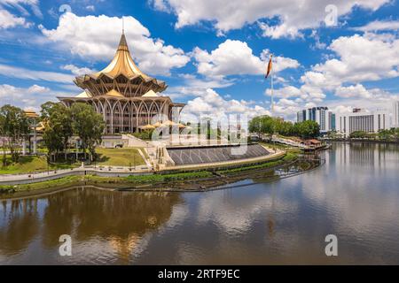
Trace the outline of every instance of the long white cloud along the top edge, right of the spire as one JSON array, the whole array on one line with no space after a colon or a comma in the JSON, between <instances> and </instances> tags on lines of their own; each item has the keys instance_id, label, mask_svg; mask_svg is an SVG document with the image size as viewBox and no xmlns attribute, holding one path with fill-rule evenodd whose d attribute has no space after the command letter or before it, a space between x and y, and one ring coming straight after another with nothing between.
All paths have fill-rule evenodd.
<instances>
[{"instance_id":1,"label":"long white cloud along the top edge, right of the spire","mask_svg":"<svg viewBox=\"0 0 399 283\"><path fill-rule=\"evenodd\" d=\"M246 24L262 20L263 35L273 38L298 36L306 28L319 27L325 21L325 7L333 4L337 15L347 15L355 6L375 11L389 0L156 0L154 9L172 11L177 16L176 27L209 21L219 34L239 29ZM270 25L265 20L278 19Z\"/></svg>"}]
</instances>

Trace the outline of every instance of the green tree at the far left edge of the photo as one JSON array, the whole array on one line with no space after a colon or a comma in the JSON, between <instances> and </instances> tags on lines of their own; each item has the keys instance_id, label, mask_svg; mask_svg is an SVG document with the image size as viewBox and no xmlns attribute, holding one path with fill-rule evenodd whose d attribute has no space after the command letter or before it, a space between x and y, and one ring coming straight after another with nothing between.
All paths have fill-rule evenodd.
<instances>
[{"instance_id":1,"label":"green tree at the far left edge of the photo","mask_svg":"<svg viewBox=\"0 0 399 283\"><path fill-rule=\"evenodd\" d=\"M20 149L16 146L29 134L27 115L20 108L6 104L0 108L0 116L3 117L3 133L8 138L12 162L19 162Z\"/></svg>"}]
</instances>

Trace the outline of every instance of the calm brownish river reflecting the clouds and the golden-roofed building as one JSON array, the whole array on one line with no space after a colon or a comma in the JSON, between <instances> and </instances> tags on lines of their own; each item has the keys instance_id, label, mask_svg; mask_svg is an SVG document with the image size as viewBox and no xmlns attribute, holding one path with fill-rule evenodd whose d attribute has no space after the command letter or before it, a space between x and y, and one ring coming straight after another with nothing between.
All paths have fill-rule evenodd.
<instances>
[{"instance_id":1,"label":"calm brownish river reflecting the clouds and the golden-roofed building","mask_svg":"<svg viewBox=\"0 0 399 283\"><path fill-rule=\"evenodd\" d=\"M399 146L335 143L320 157L298 176L205 193L2 201L0 264L399 264ZM61 234L72 256L59 256ZM325 256L327 234L338 256Z\"/></svg>"}]
</instances>

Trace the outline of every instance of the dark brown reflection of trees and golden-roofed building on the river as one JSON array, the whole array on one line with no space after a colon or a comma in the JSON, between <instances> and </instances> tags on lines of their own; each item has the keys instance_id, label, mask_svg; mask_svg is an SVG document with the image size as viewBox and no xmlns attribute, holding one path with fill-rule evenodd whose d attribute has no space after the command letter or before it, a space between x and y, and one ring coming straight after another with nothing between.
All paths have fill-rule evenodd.
<instances>
[{"instance_id":1,"label":"dark brown reflection of trees and golden-roofed building on the river","mask_svg":"<svg viewBox=\"0 0 399 283\"><path fill-rule=\"evenodd\" d=\"M0 253L12 256L36 238L43 249L58 250L59 236L70 234L76 247L95 240L108 245L115 258L129 261L145 233L168 221L180 196L158 192L109 192L74 188L40 199L3 202ZM43 213L39 213L39 210ZM80 252L84 252L84 247Z\"/></svg>"}]
</instances>

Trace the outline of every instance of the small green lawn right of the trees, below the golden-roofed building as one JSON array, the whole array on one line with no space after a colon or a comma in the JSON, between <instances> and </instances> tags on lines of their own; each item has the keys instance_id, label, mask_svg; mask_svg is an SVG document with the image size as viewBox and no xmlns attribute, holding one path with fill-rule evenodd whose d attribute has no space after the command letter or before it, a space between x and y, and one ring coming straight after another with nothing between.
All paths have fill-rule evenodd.
<instances>
[{"instance_id":1,"label":"small green lawn right of the trees, below the golden-roofed building","mask_svg":"<svg viewBox=\"0 0 399 283\"><path fill-rule=\"evenodd\" d=\"M102 149L97 148L98 166L134 166L145 164L137 149Z\"/></svg>"}]
</instances>

